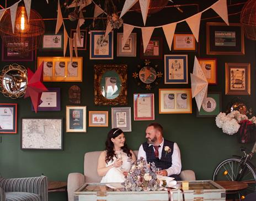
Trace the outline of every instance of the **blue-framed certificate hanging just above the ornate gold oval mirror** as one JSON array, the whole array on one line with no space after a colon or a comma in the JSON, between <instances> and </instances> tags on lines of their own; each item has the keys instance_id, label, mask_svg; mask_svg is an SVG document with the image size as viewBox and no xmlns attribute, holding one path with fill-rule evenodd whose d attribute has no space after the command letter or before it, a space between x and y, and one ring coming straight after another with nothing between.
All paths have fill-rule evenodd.
<instances>
[{"instance_id":1,"label":"blue-framed certificate hanging just above the ornate gold oval mirror","mask_svg":"<svg viewBox=\"0 0 256 201\"><path fill-rule=\"evenodd\" d=\"M113 59L113 31L90 31L90 59Z\"/></svg>"}]
</instances>

